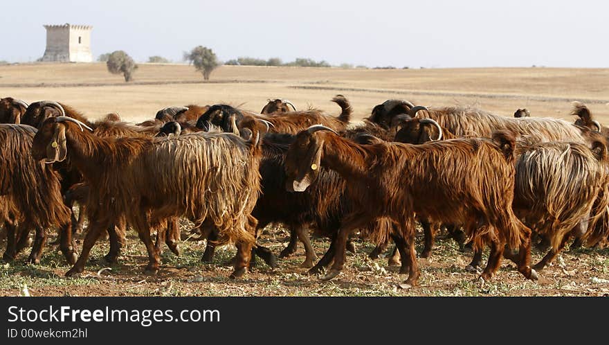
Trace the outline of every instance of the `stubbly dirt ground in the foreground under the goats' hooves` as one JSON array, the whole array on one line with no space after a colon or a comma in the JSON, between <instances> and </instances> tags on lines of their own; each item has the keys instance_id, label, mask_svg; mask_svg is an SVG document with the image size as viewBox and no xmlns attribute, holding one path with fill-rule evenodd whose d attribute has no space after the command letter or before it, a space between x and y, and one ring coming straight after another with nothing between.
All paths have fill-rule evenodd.
<instances>
[{"instance_id":1,"label":"stubbly dirt ground in the foreground under the goats' hooves","mask_svg":"<svg viewBox=\"0 0 609 345\"><path fill-rule=\"evenodd\" d=\"M184 222L181 229L188 236L190 225ZM267 228L261 242L279 254L288 237L284 229ZM422 238L417 242L420 253ZM327 240L313 239L318 257L327 246ZM70 266L56 246L48 247L40 265L24 264L26 255L21 254L15 262L0 265L0 296L19 296L24 285L31 296L609 296L609 249L565 249L552 267L539 272L537 282L527 281L504 260L493 280L481 283L478 273L464 269L471 252L460 251L454 240L441 234L433 255L419 258L420 285L403 289L406 276L398 273L399 267L388 266L387 258L367 258L374 246L362 240L356 241L355 254L347 254L343 272L329 282L300 267L305 260L302 245L293 256L281 258L275 269L258 259L238 280L228 278L232 267L226 264L235 249L220 248L213 263L201 263L205 241L188 240L180 247L180 256L163 252L156 276L144 273L146 250L133 231L118 265L107 266L102 259L109 249L104 240L94 247L78 278L64 278ZM534 260L541 257L534 251Z\"/></svg>"}]
</instances>

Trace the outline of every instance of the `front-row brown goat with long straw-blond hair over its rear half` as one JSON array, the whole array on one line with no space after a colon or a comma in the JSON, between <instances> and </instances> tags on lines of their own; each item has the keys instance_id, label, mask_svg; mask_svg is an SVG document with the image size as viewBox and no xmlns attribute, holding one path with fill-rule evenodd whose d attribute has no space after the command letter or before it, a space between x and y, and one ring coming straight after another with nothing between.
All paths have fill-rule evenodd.
<instances>
[{"instance_id":1,"label":"front-row brown goat with long straw-blond hair over its rear half","mask_svg":"<svg viewBox=\"0 0 609 345\"><path fill-rule=\"evenodd\" d=\"M251 141L233 134L104 139L84 132L81 126L69 117L48 118L32 148L33 156L47 163L69 158L92 186L87 213L93 224L66 276L83 272L102 229L121 217L145 243L149 272L157 272L159 263L151 228L158 229L163 220L178 216L195 224L206 219L214 222L219 241L237 245L231 276L246 272L257 222L251 211L260 193L260 134L255 129ZM143 175L149 179L142 179Z\"/></svg>"}]
</instances>

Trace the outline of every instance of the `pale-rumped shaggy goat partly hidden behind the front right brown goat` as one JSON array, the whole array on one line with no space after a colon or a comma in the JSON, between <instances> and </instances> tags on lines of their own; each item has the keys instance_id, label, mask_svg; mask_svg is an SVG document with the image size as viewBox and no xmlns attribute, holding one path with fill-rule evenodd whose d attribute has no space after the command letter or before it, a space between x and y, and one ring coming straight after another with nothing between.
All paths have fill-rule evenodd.
<instances>
[{"instance_id":1,"label":"pale-rumped shaggy goat partly hidden behind the front right brown goat","mask_svg":"<svg viewBox=\"0 0 609 345\"><path fill-rule=\"evenodd\" d=\"M413 118L401 126L396 135L396 141L401 143L441 139L435 136L441 127L429 118ZM445 139L454 137L446 129L441 133ZM571 235L585 233L588 218L593 220L590 227L594 228L607 206L602 195L606 195L603 191L608 187L609 175L606 147L601 141L595 141L592 150L581 143L528 141L531 139L516 141L513 211L536 234L552 240L552 249L533 266L541 270L552 262ZM428 235L433 243L433 233L426 233L426 242ZM482 252L475 251L469 267L480 265L481 260Z\"/></svg>"}]
</instances>

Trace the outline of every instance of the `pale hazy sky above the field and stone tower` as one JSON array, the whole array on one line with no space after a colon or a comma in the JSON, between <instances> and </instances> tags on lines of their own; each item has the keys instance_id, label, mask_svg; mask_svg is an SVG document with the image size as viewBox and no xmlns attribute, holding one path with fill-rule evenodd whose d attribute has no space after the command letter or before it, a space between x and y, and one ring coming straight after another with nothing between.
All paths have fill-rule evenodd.
<instances>
[{"instance_id":1,"label":"pale hazy sky above the field and stone tower","mask_svg":"<svg viewBox=\"0 0 609 345\"><path fill-rule=\"evenodd\" d=\"M609 67L604 1L2 0L0 60L42 57L43 24L93 26L92 50L181 61L296 57L369 67Z\"/></svg>"}]
</instances>

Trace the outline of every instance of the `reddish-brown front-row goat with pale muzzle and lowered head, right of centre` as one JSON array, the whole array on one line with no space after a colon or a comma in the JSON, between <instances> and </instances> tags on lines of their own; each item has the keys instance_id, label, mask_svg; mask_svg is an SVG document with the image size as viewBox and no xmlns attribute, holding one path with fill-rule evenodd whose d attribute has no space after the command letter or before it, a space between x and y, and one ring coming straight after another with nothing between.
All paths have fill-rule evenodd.
<instances>
[{"instance_id":1,"label":"reddish-brown front-row goat with pale muzzle and lowered head, right of centre","mask_svg":"<svg viewBox=\"0 0 609 345\"><path fill-rule=\"evenodd\" d=\"M491 256L482 273L485 280L498 269L506 244L520 247L518 270L527 278L537 278L529 266L531 232L511 211L514 141L509 134L497 133L493 141L358 145L320 130L330 129L312 126L300 132L290 146L286 188L305 191L320 166L336 170L349 181L347 193L357 207L338 231L334 265L324 279L334 278L343 269L349 233L388 217L397 224L394 234L407 243L407 248L399 247L410 267L406 283L416 285L415 214L468 224L466 229L477 246L490 240ZM462 178L463 171L471 172L467 179Z\"/></svg>"}]
</instances>

